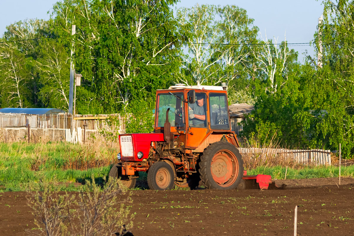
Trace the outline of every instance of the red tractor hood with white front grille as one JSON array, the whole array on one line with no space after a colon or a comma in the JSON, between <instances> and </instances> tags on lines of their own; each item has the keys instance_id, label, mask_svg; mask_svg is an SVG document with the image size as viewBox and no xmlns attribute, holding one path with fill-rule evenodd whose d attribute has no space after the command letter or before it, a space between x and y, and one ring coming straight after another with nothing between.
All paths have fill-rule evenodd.
<instances>
[{"instance_id":1,"label":"red tractor hood with white front grille","mask_svg":"<svg viewBox=\"0 0 354 236\"><path fill-rule=\"evenodd\" d=\"M149 157L151 142L164 142L163 133L121 134L119 145L122 161L141 161ZM143 156L138 158L138 152Z\"/></svg>"}]
</instances>

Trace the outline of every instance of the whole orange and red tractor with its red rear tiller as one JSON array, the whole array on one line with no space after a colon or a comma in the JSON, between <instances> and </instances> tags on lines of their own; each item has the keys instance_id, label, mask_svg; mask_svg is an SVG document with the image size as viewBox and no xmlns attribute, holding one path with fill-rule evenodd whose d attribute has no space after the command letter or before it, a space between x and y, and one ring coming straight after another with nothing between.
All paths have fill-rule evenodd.
<instances>
[{"instance_id":1,"label":"whole orange and red tractor with its red rear tiller","mask_svg":"<svg viewBox=\"0 0 354 236\"><path fill-rule=\"evenodd\" d=\"M143 111L142 111L143 112ZM231 130L226 87L177 84L156 92L153 133L121 134L109 175L133 188L147 172L150 189L175 185L245 189L245 180L266 188L269 175L244 176L239 143Z\"/></svg>"}]
</instances>

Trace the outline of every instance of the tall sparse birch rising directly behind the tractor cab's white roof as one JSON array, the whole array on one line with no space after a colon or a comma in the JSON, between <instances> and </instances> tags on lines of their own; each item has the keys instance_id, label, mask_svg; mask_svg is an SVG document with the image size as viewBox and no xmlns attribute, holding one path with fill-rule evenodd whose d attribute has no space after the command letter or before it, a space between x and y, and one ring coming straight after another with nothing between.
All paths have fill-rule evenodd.
<instances>
[{"instance_id":1,"label":"tall sparse birch rising directly behind the tractor cab's white roof","mask_svg":"<svg viewBox=\"0 0 354 236\"><path fill-rule=\"evenodd\" d=\"M182 53L182 73L178 81L187 85L212 84L220 72L219 62L223 53L219 53L220 27L215 21L215 5L195 5L191 8L179 8L177 20L179 31L183 34L184 45L188 53Z\"/></svg>"}]
</instances>

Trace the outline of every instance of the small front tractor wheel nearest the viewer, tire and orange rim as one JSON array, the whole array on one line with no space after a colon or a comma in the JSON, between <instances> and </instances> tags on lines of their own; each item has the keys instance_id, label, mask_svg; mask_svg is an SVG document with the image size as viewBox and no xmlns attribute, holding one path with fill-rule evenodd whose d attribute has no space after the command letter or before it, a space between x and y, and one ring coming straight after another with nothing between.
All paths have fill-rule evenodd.
<instances>
[{"instance_id":1,"label":"small front tractor wheel nearest the viewer, tire and orange rim","mask_svg":"<svg viewBox=\"0 0 354 236\"><path fill-rule=\"evenodd\" d=\"M172 167L164 162L155 162L148 171L148 185L152 190L170 190L175 187L175 173Z\"/></svg>"}]
</instances>

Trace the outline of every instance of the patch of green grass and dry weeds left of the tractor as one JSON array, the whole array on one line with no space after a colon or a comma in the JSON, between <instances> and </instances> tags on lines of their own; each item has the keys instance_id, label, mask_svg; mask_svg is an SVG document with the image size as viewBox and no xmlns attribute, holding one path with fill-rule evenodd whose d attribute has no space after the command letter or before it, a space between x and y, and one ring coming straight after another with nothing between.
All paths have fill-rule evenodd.
<instances>
[{"instance_id":1,"label":"patch of green grass and dry weeds left of the tractor","mask_svg":"<svg viewBox=\"0 0 354 236\"><path fill-rule=\"evenodd\" d=\"M56 178L60 188L68 191L78 190L80 187L74 183L90 180L92 175L96 183L102 183L110 171L109 164L102 166L106 153L104 149L95 152L67 143L0 143L0 189L22 191L27 183L38 181L38 174L48 182ZM80 167L100 163L101 167L70 169L70 163Z\"/></svg>"}]
</instances>

